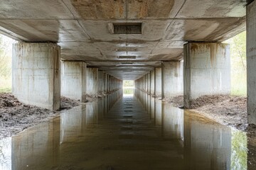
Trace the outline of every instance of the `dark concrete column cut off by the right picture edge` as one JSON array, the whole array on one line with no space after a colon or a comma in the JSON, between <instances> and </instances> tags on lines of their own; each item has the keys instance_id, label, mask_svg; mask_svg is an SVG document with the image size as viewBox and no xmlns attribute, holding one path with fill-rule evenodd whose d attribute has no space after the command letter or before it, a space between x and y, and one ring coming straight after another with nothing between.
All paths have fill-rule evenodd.
<instances>
[{"instance_id":1,"label":"dark concrete column cut off by the right picture edge","mask_svg":"<svg viewBox=\"0 0 256 170\"><path fill-rule=\"evenodd\" d=\"M248 123L256 125L256 1L252 1L247 11L247 114Z\"/></svg>"}]
</instances>

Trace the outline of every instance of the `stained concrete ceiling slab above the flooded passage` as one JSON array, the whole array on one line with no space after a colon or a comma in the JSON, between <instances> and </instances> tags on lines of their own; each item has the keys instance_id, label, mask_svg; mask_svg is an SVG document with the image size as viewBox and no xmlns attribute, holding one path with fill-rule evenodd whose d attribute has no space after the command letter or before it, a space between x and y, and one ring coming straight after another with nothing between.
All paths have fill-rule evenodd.
<instances>
[{"instance_id":1,"label":"stained concrete ceiling slab above the flooded passage","mask_svg":"<svg viewBox=\"0 0 256 170\"><path fill-rule=\"evenodd\" d=\"M0 0L0 33L58 42L63 60L82 60L119 79L137 79L164 60L182 60L187 41L221 42L245 30L245 0ZM142 23L113 34L112 23ZM124 60L118 56L136 56Z\"/></svg>"}]
</instances>

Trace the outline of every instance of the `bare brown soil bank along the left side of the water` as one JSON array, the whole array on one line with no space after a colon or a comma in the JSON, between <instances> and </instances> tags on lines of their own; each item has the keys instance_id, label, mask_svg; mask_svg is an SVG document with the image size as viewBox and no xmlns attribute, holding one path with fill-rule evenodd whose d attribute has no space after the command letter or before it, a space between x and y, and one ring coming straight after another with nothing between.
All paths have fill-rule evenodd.
<instances>
[{"instance_id":1,"label":"bare brown soil bank along the left side of the water","mask_svg":"<svg viewBox=\"0 0 256 170\"><path fill-rule=\"evenodd\" d=\"M73 108L79 104L79 101L70 98L60 98L60 110ZM58 111L21 103L12 94L0 94L0 139L15 135L58 115Z\"/></svg>"}]
</instances>

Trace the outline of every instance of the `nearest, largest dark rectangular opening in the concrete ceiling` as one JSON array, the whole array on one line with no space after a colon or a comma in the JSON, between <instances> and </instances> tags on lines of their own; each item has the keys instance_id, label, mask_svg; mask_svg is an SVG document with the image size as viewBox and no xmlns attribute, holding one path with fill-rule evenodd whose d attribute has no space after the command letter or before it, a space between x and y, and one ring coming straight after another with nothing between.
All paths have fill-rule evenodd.
<instances>
[{"instance_id":1,"label":"nearest, largest dark rectangular opening in the concrete ceiling","mask_svg":"<svg viewBox=\"0 0 256 170\"><path fill-rule=\"evenodd\" d=\"M114 34L142 34L142 23L113 23Z\"/></svg>"}]
</instances>

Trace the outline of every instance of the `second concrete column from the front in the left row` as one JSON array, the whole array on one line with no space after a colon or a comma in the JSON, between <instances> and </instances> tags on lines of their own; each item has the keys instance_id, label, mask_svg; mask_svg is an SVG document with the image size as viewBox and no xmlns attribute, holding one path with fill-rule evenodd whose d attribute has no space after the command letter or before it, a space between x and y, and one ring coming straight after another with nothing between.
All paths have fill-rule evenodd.
<instances>
[{"instance_id":1,"label":"second concrete column from the front in the left row","mask_svg":"<svg viewBox=\"0 0 256 170\"><path fill-rule=\"evenodd\" d=\"M61 62L61 95L86 101L86 63Z\"/></svg>"}]
</instances>

